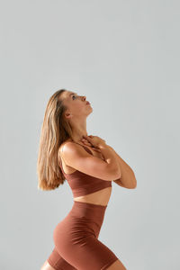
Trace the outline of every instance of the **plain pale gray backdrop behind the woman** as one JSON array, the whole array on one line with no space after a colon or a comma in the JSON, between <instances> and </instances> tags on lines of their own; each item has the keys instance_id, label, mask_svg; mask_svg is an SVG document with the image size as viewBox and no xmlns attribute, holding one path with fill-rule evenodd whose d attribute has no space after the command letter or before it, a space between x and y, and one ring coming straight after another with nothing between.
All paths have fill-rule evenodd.
<instances>
[{"instance_id":1,"label":"plain pale gray backdrop behind the woman","mask_svg":"<svg viewBox=\"0 0 180 270\"><path fill-rule=\"evenodd\" d=\"M72 207L67 183L42 192L36 175L45 108L64 87L86 95L88 134L137 178L112 183L100 240L128 270L180 269L179 14L175 0L1 4L1 269L40 270Z\"/></svg>"}]
</instances>

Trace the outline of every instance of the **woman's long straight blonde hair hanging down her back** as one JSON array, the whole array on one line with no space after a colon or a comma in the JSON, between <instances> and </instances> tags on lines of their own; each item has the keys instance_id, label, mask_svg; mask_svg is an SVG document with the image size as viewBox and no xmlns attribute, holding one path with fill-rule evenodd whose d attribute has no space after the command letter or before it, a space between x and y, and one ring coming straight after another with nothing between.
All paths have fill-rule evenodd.
<instances>
[{"instance_id":1,"label":"woman's long straight blonde hair hanging down her back","mask_svg":"<svg viewBox=\"0 0 180 270\"><path fill-rule=\"evenodd\" d=\"M38 189L47 191L64 184L65 176L58 166L59 146L72 139L72 130L64 117L67 106L60 95L67 89L60 89L49 98L40 130L40 144L37 160Z\"/></svg>"}]
</instances>

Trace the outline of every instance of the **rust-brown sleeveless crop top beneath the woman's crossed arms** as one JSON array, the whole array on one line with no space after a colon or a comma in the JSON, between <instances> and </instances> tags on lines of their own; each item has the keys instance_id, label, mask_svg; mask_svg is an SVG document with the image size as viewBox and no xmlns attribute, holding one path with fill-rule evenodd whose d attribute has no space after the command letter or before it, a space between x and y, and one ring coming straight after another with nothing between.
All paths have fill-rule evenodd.
<instances>
[{"instance_id":1,"label":"rust-brown sleeveless crop top beneath the woman's crossed arms","mask_svg":"<svg viewBox=\"0 0 180 270\"><path fill-rule=\"evenodd\" d=\"M79 144L79 143L77 143ZM81 144L79 144L81 145ZM81 145L85 148L85 150L91 154L91 150L86 148L85 146ZM59 158L60 159L60 158ZM90 193L97 192L103 188L112 186L112 181L109 180L102 180L100 178L94 177L92 175L86 175L85 173L76 170L71 174L66 174L63 170L62 162L60 159L60 167L62 170L63 175L65 175L67 179L67 183L69 184L71 191L73 193L73 197L76 198L78 196L84 196Z\"/></svg>"}]
</instances>

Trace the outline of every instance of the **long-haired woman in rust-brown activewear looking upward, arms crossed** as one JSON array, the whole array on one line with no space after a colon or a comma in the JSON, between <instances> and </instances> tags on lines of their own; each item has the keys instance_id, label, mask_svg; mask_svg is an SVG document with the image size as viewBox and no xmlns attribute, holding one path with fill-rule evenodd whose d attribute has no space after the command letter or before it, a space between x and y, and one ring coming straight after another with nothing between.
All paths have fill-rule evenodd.
<instances>
[{"instance_id":1,"label":"long-haired woman in rust-brown activewear looking upward, arms crossed","mask_svg":"<svg viewBox=\"0 0 180 270\"><path fill-rule=\"evenodd\" d=\"M121 157L97 136L87 136L93 112L85 96L66 89L53 94L40 134L38 188L52 190L67 179L74 204L53 231L55 247L40 270L125 270L120 259L99 241L112 181L136 187L136 178Z\"/></svg>"}]
</instances>

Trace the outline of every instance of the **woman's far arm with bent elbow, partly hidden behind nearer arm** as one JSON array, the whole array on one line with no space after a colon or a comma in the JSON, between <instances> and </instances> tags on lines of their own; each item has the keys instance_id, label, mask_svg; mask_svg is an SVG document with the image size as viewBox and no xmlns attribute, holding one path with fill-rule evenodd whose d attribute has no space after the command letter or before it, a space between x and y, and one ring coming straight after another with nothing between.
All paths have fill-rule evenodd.
<instances>
[{"instance_id":1,"label":"woman's far arm with bent elbow, partly hidden behind nearer arm","mask_svg":"<svg viewBox=\"0 0 180 270\"><path fill-rule=\"evenodd\" d=\"M121 185L125 188L136 188L137 181L136 177L134 175L133 170L130 168L130 166L115 152L115 150L108 145L109 148L112 149L112 151L116 154L116 157L118 159L119 165L121 167L121 178L118 178L117 180L113 180L116 184Z\"/></svg>"}]
</instances>

